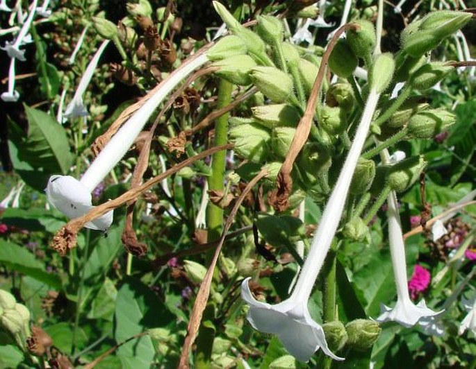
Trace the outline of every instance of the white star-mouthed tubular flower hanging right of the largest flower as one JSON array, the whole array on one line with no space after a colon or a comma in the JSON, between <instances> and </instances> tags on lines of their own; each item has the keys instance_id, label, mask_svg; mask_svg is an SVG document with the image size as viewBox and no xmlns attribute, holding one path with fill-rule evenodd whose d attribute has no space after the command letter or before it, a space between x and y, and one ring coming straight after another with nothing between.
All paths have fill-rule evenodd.
<instances>
[{"instance_id":1,"label":"white star-mouthed tubular flower hanging right of the largest flower","mask_svg":"<svg viewBox=\"0 0 476 369\"><path fill-rule=\"evenodd\" d=\"M393 309L381 304L381 315L376 320L380 323L395 321L404 327L412 327L420 319L440 314L440 312L428 309L425 300L421 300L418 304L413 304L410 300L405 246L395 191L391 191L388 195L387 206L388 239L390 241L393 274L395 275L395 284L397 286L397 304L395 304Z\"/></svg>"}]
</instances>

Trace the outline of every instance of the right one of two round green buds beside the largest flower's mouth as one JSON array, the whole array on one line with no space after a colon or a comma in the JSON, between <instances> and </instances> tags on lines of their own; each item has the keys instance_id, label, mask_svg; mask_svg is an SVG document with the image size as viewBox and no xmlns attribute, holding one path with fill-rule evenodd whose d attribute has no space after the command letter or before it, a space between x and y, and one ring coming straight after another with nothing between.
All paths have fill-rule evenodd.
<instances>
[{"instance_id":1,"label":"right one of two round green buds beside the largest flower's mouth","mask_svg":"<svg viewBox=\"0 0 476 369\"><path fill-rule=\"evenodd\" d=\"M356 319L345 325L347 345L354 350L366 351L372 347L380 336L381 328L375 320Z\"/></svg>"}]
</instances>

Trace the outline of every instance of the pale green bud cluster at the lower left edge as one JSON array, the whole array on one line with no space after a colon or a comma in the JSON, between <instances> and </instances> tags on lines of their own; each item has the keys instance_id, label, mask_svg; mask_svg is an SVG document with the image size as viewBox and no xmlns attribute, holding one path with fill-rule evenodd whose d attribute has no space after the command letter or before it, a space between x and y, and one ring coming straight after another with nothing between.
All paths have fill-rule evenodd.
<instances>
[{"instance_id":1,"label":"pale green bud cluster at the lower left edge","mask_svg":"<svg viewBox=\"0 0 476 369\"><path fill-rule=\"evenodd\" d=\"M30 311L25 305L17 303L15 296L0 289L0 327L2 327L22 350L30 332Z\"/></svg>"}]
</instances>

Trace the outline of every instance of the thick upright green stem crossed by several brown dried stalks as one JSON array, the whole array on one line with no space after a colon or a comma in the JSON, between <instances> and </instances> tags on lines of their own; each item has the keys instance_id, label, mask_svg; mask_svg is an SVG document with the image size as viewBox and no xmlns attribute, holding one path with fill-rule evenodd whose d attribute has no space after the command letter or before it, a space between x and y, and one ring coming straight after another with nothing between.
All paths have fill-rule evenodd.
<instances>
[{"instance_id":1,"label":"thick upright green stem crossed by several brown dried stalks","mask_svg":"<svg viewBox=\"0 0 476 369\"><path fill-rule=\"evenodd\" d=\"M223 108L231 102L231 92L233 85L226 80L220 80L218 89L217 109ZM229 113L223 114L216 119L215 122L215 142L214 146L227 143ZM224 170L227 160L226 151L218 151L213 154L211 162L211 175L208 177L208 189L222 191L224 188ZM208 242L215 241L220 238L223 225L223 209L208 204L206 209L206 223L208 228Z\"/></svg>"}]
</instances>

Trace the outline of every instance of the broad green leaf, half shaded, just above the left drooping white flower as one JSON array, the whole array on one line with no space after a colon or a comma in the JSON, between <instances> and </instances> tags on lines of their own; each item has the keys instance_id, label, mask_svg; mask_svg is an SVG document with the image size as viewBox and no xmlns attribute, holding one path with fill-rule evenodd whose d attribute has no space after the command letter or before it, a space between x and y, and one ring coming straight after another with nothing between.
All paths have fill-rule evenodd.
<instances>
[{"instance_id":1,"label":"broad green leaf, half shaded, just above the left drooping white flower","mask_svg":"<svg viewBox=\"0 0 476 369\"><path fill-rule=\"evenodd\" d=\"M28 108L28 134L8 120L8 148L13 166L28 186L43 191L49 175L66 174L73 162L63 126L49 114Z\"/></svg>"}]
</instances>

